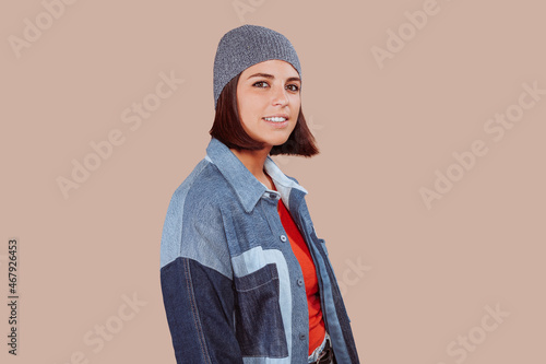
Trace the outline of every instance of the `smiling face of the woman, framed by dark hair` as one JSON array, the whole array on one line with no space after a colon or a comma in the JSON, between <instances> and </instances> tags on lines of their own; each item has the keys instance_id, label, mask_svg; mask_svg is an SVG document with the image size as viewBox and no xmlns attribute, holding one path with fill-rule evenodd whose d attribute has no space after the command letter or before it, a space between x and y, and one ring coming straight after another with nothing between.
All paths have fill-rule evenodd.
<instances>
[{"instance_id":1,"label":"smiling face of the woman, framed by dark hair","mask_svg":"<svg viewBox=\"0 0 546 364\"><path fill-rule=\"evenodd\" d=\"M300 87L298 72L283 60L268 60L242 71L237 107L245 131L268 148L286 142L298 118Z\"/></svg>"}]
</instances>

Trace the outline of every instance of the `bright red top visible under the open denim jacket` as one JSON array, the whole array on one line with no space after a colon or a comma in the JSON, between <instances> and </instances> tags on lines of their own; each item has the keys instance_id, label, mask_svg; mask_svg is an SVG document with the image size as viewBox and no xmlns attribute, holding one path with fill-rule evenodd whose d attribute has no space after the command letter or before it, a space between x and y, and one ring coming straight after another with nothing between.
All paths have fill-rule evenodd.
<instances>
[{"instance_id":1,"label":"bright red top visible under the open denim jacket","mask_svg":"<svg viewBox=\"0 0 546 364\"><path fill-rule=\"evenodd\" d=\"M276 190L273 184L273 189ZM319 347L324 340L325 328L324 320L322 319L322 310L320 308L320 296L319 296L319 282L317 280L317 271L314 268L314 262L312 261L311 254L307 247L304 237L301 236L296 223L292 219L290 212L283 203L283 200L278 200L278 215L281 216L281 222L283 227L288 235L288 240L290 242L292 250L301 266L301 271L304 273L304 281L306 285L307 293L307 306L309 308L309 355Z\"/></svg>"}]
</instances>

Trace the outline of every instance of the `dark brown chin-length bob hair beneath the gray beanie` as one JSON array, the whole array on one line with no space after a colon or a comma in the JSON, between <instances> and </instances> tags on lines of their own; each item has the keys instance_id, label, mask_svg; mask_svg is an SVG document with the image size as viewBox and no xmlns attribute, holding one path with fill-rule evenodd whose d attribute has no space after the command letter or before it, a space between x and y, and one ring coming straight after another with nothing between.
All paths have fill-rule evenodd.
<instances>
[{"instance_id":1,"label":"dark brown chin-length bob hair beneath the gray beanie","mask_svg":"<svg viewBox=\"0 0 546 364\"><path fill-rule=\"evenodd\" d=\"M209 133L228 148L236 150L261 150L264 148L264 143L252 139L242 128L239 118L239 110L237 107L237 83L239 82L241 73L233 78L219 94L218 101L216 102L214 124ZM318 153L319 149L314 144L314 137L307 127L300 107L296 127L290 136L285 143L273 145L270 155L287 154L310 157Z\"/></svg>"}]
</instances>

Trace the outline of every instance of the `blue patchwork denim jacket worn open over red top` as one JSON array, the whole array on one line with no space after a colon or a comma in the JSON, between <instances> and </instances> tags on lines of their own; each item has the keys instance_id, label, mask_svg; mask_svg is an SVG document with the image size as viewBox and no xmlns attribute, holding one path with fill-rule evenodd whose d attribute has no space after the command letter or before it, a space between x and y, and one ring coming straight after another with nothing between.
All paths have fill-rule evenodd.
<instances>
[{"instance_id":1,"label":"blue patchwork denim jacket worn open over red top","mask_svg":"<svg viewBox=\"0 0 546 364\"><path fill-rule=\"evenodd\" d=\"M359 363L340 287L307 209L307 190L268 155L260 183L219 140L174 192L163 227L161 283L177 363L307 363L304 275L278 216L282 199L317 267L339 364Z\"/></svg>"}]
</instances>

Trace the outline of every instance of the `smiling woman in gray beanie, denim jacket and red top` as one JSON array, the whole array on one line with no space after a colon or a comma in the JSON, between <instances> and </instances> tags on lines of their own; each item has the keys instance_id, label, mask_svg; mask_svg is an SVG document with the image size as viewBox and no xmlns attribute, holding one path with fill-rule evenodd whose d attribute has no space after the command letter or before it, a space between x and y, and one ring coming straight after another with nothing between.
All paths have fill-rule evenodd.
<instances>
[{"instance_id":1,"label":"smiling woman in gray beanie, denim jacket and red top","mask_svg":"<svg viewBox=\"0 0 546 364\"><path fill-rule=\"evenodd\" d=\"M318 153L289 40L242 25L214 60L206 155L173 195L161 282L177 363L359 363L305 201L270 155Z\"/></svg>"}]
</instances>

